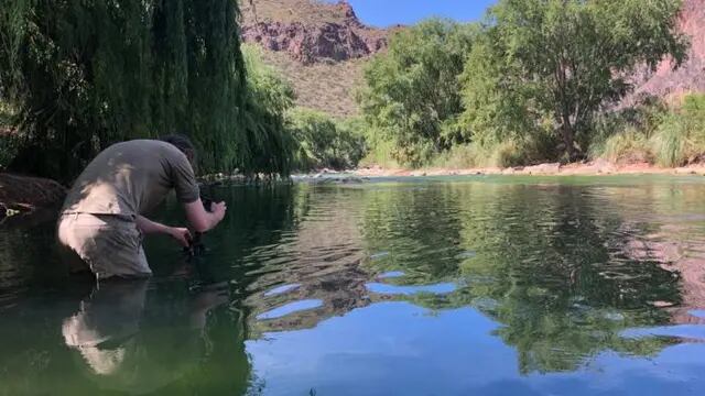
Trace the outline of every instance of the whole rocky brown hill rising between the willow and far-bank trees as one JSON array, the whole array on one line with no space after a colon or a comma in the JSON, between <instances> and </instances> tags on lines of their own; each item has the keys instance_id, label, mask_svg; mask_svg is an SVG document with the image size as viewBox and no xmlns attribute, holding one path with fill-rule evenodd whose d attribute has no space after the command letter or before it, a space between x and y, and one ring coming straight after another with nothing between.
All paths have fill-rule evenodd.
<instances>
[{"instance_id":1,"label":"whole rocky brown hill rising between the willow and far-bank trees","mask_svg":"<svg viewBox=\"0 0 705 396\"><path fill-rule=\"evenodd\" d=\"M357 113L355 89L389 31L366 26L347 1L245 0L242 38L294 87L300 106L337 117Z\"/></svg>"}]
</instances>

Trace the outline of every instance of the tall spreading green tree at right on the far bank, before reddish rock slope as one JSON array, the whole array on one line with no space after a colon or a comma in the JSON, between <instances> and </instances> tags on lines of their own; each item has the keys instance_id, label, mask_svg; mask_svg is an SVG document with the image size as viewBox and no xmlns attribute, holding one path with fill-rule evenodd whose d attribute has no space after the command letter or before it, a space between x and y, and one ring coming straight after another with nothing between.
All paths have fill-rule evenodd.
<instances>
[{"instance_id":1,"label":"tall spreading green tree at right on the far bank, before reddish rock slope","mask_svg":"<svg viewBox=\"0 0 705 396\"><path fill-rule=\"evenodd\" d=\"M637 65L655 68L665 56L680 63L686 41L675 33L680 1L502 0L490 12L488 34L501 72L521 81L541 112L551 114L570 158L583 147L603 106L622 98Z\"/></svg>"}]
</instances>

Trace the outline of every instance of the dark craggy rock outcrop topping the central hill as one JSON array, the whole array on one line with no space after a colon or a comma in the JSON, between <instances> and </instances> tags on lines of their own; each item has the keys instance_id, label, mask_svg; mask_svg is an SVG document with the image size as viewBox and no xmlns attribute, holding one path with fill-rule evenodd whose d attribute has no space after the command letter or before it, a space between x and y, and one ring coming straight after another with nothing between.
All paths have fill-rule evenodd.
<instances>
[{"instance_id":1,"label":"dark craggy rock outcrop topping the central hill","mask_svg":"<svg viewBox=\"0 0 705 396\"><path fill-rule=\"evenodd\" d=\"M387 46L387 32L365 26L347 2L259 0L243 14L246 43L286 52L304 64L360 58Z\"/></svg>"}]
</instances>

